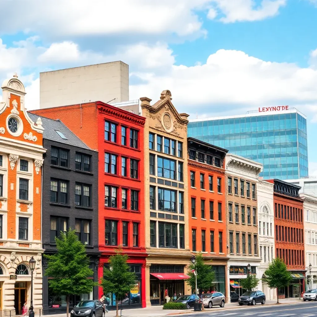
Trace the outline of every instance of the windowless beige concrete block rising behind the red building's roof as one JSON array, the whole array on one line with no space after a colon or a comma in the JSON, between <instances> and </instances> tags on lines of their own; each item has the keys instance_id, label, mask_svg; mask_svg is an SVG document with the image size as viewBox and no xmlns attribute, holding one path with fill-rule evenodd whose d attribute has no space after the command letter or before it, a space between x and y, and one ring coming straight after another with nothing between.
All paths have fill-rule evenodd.
<instances>
[{"instance_id":1,"label":"windowless beige concrete block rising behind the red building's roof","mask_svg":"<svg viewBox=\"0 0 317 317\"><path fill-rule=\"evenodd\" d=\"M40 73L40 108L129 100L129 65L122 61Z\"/></svg>"}]
</instances>

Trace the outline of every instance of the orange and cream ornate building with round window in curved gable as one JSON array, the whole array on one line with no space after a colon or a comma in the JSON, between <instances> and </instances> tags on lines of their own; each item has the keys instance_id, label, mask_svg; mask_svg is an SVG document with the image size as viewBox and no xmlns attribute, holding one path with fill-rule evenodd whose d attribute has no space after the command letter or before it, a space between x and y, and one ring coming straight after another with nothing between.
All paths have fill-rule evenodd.
<instances>
[{"instance_id":1,"label":"orange and cream ornate building with round window in curved gable","mask_svg":"<svg viewBox=\"0 0 317 317\"><path fill-rule=\"evenodd\" d=\"M2 84L0 102L0 310L21 314L30 306L42 308L41 184L45 149L44 127L33 122L24 107L25 90L15 74Z\"/></svg>"}]
</instances>

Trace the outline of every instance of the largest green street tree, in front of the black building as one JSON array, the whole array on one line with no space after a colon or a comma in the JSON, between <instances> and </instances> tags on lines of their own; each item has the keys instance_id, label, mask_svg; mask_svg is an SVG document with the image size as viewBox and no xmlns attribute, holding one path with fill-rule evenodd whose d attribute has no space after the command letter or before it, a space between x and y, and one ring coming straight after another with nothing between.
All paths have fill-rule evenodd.
<instances>
[{"instance_id":1,"label":"largest green street tree, in front of the black building","mask_svg":"<svg viewBox=\"0 0 317 317\"><path fill-rule=\"evenodd\" d=\"M98 285L92 277L94 271L89 268L89 258L85 246L78 241L74 230L67 234L61 232L55 237L57 253L46 255L48 266L45 275L49 277L49 287L55 294L66 295L66 314L69 315L69 295L87 294Z\"/></svg>"}]
</instances>

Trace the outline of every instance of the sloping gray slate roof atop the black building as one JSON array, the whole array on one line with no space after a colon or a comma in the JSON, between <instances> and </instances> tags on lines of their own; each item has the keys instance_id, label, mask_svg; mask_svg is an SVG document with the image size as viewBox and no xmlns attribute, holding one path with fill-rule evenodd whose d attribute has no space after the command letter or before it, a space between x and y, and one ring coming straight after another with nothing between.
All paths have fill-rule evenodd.
<instances>
[{"instance_id":1,"label":"sloping gray slate roof atop the black building","mask_svg":"<svg viewBox=\"0 0 317 317\"><path fill-rule=\"evenodd\" d=\"M81 139L79 139L72 131L70 131L68 127L65 126L60 120L48 119L48 118L39 116L37 114L29 113L29 112L28 112L28 115L31 118L31 120L33 120L34 122L36 122L36 120L39 117L42 119L42 124L44 128L43 139L91 150L84 142L81 141ZM56 133L56 130L63 133L64 136L67 138L67 140L62 139Z\"/></svg>"}]
</instances>

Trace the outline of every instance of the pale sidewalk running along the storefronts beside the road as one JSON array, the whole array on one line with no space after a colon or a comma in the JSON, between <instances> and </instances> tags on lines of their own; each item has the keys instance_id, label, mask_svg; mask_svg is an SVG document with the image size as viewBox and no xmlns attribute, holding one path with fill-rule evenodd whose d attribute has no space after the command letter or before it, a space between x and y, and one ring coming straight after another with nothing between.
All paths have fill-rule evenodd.
<instances>
[{"instance_id":1,"label":"pale sidewalk running along the storefronts beside the road","mask_svg":"<svg viewBox=\"0 0 317 317\"><path fill-rule=\"evenodd\" d=\"M303 300L299 300L298 298L287 298L287 299L280 299L281 304L295 304L303 302ZM265 306L269 305L275 305L276 300L269 300L266 301ZM257 304L256 306L261 306L261 304ZM225 304L225 308L238 308L240 307L238 303L230 303ZM242 306L244 307L244 306ZM120 308L120 307L119 307ZM220 307L213 307L211 309L205 308L202 312L194 312L193 309L187 309L187 310L171 310L171 309L164 309L163 306L152 306L147 308L134 308L134 309L122 309L122 317L160 317L160 316L172 316L172 315L181 315L181 314L202 314L207 312L217 312L219 310L223 310L223 308ZM115 310L109 310L108 314L106 313L105 317L115 317L116 311ZM56 314L56 315L45 315L47 317L66 317L66 314ZM120 310L119 310L119 316L120 316Z\"/></svg>"}]
</instances>

